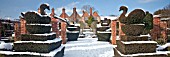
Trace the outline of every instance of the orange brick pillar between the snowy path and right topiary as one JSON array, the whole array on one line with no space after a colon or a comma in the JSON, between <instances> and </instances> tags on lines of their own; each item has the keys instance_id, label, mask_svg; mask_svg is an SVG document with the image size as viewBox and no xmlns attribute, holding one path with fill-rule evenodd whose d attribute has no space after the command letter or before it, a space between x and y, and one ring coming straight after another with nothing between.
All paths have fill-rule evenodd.
<instances>
[{"instance_id":1,"label":"orange brick pillar between the snowy path and right topiary","mask_svg":"<svg viewBox=\"0 0 170 57\"><path fill-rule=\"evenodd\" d=\"M111 28L112 28L112 44L116 44L116 20L112 20L111 22Z\"/></svg>"}]
</instances>

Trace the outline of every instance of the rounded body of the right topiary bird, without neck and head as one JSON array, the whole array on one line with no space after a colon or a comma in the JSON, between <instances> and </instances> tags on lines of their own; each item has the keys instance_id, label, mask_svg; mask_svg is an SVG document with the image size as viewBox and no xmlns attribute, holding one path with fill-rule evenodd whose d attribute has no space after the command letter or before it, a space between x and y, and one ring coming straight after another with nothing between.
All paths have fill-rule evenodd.
<instances>
[{"instance_id":1,"label":"rounded body of the right topiary bird, without neck and head","mask_svg":"<svg viewBox=\"0 0 170 57\"><path fill-rule=\"evenodd\" d=\"M145 17L145 12L141 9L135 9L129 13L127 16L127 24L141 24L143 23L143 18Z\"/></svg>"}]
</instances>

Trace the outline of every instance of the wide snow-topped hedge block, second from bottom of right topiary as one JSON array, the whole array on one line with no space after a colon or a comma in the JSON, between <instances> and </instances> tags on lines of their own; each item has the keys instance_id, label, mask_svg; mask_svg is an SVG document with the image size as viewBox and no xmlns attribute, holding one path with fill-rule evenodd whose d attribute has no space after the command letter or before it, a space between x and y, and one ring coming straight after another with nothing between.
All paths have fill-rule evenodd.
<instances>
[{"instance_id":1,"label":"wide snow-topped hedge block, second from bottom of right topiary","mask_svg":"<svg viewBox=\"0 0 170 57\"><path fill-rule=\"evenodd\" d=\"M156 52L155 41L116 41L117 49L122 54L153 53Z\"/></svg>"}]
</instances>

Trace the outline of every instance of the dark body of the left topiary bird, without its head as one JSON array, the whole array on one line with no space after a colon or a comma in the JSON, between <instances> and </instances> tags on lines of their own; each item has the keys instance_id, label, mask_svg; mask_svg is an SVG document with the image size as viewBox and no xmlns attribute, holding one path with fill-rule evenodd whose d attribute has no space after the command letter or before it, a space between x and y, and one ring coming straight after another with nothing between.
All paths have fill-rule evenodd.
<instances>
[{"instance_id":1,"label":"dark body of the left topiary bird, without its head","mask_svg":"<svg viewBox=\"0 0 170 57\"><path fill-rule=\"evenodd\" d=\"M37 14L35 12L27 12L24 15L24 18L25 18L27 24L29 24L29 23L49 24L51 22L51 18L49 16L41 17L39 14Z\"/></svg>"}]
</instances>

